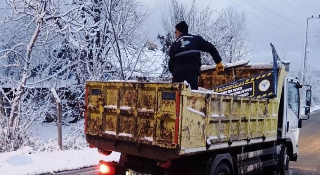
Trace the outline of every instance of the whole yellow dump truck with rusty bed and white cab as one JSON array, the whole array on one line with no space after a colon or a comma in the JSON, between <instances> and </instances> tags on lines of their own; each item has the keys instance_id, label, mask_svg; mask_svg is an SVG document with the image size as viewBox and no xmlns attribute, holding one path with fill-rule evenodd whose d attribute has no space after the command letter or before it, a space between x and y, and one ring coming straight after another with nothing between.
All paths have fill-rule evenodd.
<instances>
[{"instance_id":1,"label":"whole yellow dump truck with rusty bed and white cab","mask_svg":"<svg viewBox=\"0 0 320 175\"><path fill-rule=\"evenodd\" d=\"M285 63L202 67L187 83L87 82L85 134L104 174L285 174L296 161L302 85ZM88 155L89 156L89 155Z\"/></svg>"}]
</instances>

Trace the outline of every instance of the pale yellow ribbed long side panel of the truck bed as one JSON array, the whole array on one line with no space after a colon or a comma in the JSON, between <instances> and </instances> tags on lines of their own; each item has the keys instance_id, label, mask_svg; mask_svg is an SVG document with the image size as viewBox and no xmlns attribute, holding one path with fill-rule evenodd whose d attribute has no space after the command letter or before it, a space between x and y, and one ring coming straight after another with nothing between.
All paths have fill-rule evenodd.
<instances>
[{"instance_id":1,"label":"pale yellow ribbed long side panel of the truck bed","mask_svg":"<svg viewBox=\"0 0 320 175\"><path fill-rule=\"evenodd\" d=\"M180 154L207 151L211 145L251 139L276 140L277 99L182 91ZM229 145L231 146L231 145Z\"/></svg>"}]
</instances>

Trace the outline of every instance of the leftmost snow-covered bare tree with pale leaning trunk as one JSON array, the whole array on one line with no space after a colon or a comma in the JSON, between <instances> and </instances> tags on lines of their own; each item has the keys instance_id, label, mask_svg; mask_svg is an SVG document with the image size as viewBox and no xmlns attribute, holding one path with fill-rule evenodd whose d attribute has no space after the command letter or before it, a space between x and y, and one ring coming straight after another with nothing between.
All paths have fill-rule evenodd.
<instances>
[{"instance_id":1,"label":"leftmost snow-covered bare tree with pale leaning trunk","mask_svg":"<svg viewBox=\"0 0 320 175\"><path fill-rule=\"evenodd\" d=\"M82 7L65 8L67 3L59 0L6 2L11 13L1 22L6 29L1 34L7 37L1 37L0 50L0 152L25 143L27 129L47 111L49 94L41 90L43 85L76 64L50 53L61 48L61 38L67 37Z\"/></svg>"}]
</instances>

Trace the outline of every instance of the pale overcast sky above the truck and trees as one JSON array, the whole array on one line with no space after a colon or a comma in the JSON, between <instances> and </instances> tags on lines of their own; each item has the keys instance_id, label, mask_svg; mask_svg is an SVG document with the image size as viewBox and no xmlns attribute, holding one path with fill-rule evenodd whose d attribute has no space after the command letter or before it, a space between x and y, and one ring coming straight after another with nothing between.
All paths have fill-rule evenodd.
<instances>
[{"instance_id":1,"label":"pale overcast sky above the truck and trees","mask_svg":"<svg viewBox=\"0 0 320 175\"><path fill-rule=\"evenodd\" d=\"M171 0L141 0L152 11L148 21L151 38L163 33L162 14L168 11ZM188 6L193 0L180 0ZM293 67L303 64L306 21L320 15L320 0L195 0L198 9L210 5L221 10L234 6L247 17L251 62L270 62L272 43L281 57L291 60ZM267 6L267 7L266 7ZM320 70L320 19L309 20L307 65ZM285 55L284 55L285 54Z\"/></svg>"}]
</instances>

